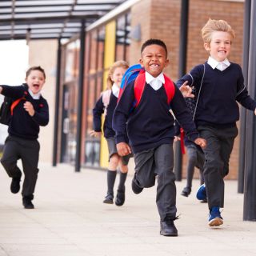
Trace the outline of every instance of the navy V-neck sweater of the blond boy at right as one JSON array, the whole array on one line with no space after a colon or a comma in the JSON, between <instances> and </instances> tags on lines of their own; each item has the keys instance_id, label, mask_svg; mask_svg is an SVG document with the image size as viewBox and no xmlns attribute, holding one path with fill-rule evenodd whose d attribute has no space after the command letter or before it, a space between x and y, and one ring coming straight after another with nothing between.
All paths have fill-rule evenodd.
<instances>
[{"instance_id":1,"label":"navy V-neck sweater of the blond boy at right","mask_svg":"<svg viewBox=\"0 0 256 256\"><path fill-rule=\"evenodd\" d=\"M241 67L231 62L226 70L213 69L205 63L206 73L198 100L194 122L197 126L232 127L239 119L238 103L248 110L255 110L256 102L250 98ZM196 94L202 81L203 66L198 65L177 82L182 86L185 81L194 86Z\"/></svg>"}]
</instances>

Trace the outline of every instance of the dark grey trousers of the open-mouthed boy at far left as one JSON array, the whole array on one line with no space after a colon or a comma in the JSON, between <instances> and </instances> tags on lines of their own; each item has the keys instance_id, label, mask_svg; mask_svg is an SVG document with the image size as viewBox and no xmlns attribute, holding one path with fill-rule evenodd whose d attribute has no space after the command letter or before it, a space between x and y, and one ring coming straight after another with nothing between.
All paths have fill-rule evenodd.
<instances>
[{"instance_id":1,"label":"dark grey trousers of the open-mouthed boy at far left","mask_svg":"<svg viewBox=\"0 0 256 256\"><path fill-rule=\"evenodd\" d=\"M10 178L18 178L22 174L17 166L18 159L22 160L25 174L22 196L34 198L34 188L38 179L38 157L40 145L38 140L28 140L14 136L6 138L1 163Z\"/></svg>"}]
</instances>

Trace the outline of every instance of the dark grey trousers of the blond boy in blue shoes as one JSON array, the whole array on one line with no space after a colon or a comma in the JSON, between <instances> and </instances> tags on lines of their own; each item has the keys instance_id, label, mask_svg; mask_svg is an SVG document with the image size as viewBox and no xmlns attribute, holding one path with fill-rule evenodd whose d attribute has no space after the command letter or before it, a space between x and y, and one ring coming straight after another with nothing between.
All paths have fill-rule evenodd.
<instances>
[{"instance_id":1,"label":"dark grey trousers of the blond boy in blue shoes","mask_svg":"<svg viewBox=\"0 0 256 256\"><path fill-rule=\"evenodd\" d=\"M229 173L230 154L234 146L234 138L238 135L236 126L230 128L214 128L198 126L200 137L205 138L207 146L203 175L209 209L214 206L224 207L224 180Z\"/></svg>"}]
</instances>

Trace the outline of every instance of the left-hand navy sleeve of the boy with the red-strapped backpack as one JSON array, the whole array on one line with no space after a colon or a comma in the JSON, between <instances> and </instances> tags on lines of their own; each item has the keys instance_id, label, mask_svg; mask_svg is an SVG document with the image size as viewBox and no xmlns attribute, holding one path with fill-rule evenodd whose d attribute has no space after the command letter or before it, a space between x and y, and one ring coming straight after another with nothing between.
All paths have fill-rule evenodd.
<instances>
[{"instance_id":1,"label":"left-hand navy sleeve of the boy with the red-strapped backpack","mask_svg":"<svg viewBox=\"0 0 256 256\"><path fill-rule=\"evenodd\" d=\"M134 83L131 82L125 88L114 110L112 127L116 133L116 142L127 142L126 122L132 110L134 102Z\"/></svg>"}]
</instances>

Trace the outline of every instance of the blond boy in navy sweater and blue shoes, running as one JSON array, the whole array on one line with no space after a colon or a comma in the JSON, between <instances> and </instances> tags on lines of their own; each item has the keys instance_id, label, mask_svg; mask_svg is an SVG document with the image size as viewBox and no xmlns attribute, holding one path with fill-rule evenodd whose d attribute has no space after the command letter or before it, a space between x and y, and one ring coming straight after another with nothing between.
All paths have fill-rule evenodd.
<instances>
[{"instance_id":1,"label":"blond boy in navy sweater and blue shoes, running","mask_svg":"<svg viewBox=\"0 0 256 256\"><path fill-rule=\"evenodd\" d=\"M253 110L256 102L248 95L241 67L229 62L234 30L223 20L209 20L202 28L202 39L210 57L203 65L194 66L190 74L183 76L178 86L194 86L198 94L198 106L194 122L199 134L207 141L204 149L204 180L197 198L208 199L210 226L223 223L220 208L224 206L224 180L229 173L230 154L234 138L238 135L236 122L239 119L238 103ZM204 70L205 67L205 71ZM204 77L203 77L204 73ZM203 77L203 79L202 79Z\"/></svg>"}]
</instances>

